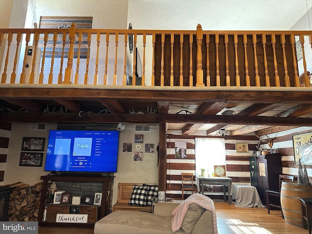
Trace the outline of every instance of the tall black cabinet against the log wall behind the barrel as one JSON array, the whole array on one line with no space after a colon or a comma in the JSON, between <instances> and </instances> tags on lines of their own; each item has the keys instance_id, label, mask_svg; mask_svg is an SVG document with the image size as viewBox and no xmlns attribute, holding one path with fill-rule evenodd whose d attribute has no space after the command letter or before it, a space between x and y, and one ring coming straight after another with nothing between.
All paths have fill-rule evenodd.
<instances>
[{"instance_id":1,"label":"tall black cabinet against the log wall behind the barrel","mask_svg":"<svg viewBox=\"0 0 312 234\"><path fill-rule=\"evenodd\" d=\"M266 204L266 190L278 190L278 175L282 174L280 154L250 156L251 185L257 188L263 204Z\"/></svg>"}]
</instances>

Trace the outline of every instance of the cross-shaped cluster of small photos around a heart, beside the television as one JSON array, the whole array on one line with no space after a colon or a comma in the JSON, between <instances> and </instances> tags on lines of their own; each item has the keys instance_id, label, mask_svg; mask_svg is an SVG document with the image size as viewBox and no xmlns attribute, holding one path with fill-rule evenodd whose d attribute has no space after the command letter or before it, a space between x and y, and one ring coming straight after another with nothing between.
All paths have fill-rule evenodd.
<instances>
[{"instance_id":1,"label":"cross-shaped cluster of small photos around a heart, beside the television","mask_svg":"<svg viewBox=\"0 0 312 234\"><path fill-rule=\"evenodd\" d=\"M144 134L135 134L133 142L124 142L122 144L122 152L133 152L134 161L143 161L144 153L148 154L155 152L155 144L144 143L144 141Z\"/></svg>"}]
</instances>

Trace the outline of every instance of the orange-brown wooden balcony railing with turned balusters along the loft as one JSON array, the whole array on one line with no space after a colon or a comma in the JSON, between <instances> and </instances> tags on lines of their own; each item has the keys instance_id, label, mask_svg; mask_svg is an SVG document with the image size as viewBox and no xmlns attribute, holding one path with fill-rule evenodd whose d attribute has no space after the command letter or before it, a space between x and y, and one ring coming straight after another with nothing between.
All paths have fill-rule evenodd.
<instances>
[{"instance_id":1,"label":"orange-brown wooden balcony railing with turned balusters along the loft","mask_svg":"<svg viewBox=\"0 0 312 234\"><path fill-rule=\"evenodd\" d=\"M0 78L1 83L310 87L307 43L312 47L311 31L203 31L200 24L194 31L77 29L75 23L69 29L0 29Z\"/></svg>"}]
</instances>

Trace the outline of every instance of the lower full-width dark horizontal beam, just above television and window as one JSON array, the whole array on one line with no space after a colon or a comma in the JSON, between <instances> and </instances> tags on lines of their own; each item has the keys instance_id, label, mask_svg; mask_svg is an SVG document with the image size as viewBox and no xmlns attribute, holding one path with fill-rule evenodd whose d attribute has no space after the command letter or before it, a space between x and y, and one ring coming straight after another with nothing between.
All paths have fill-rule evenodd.
<instances>
[{"instance_id":1,"label":"lower full-width dark horizontal beam, just above television and window","mask_svg":"<svg viewBox=\"0 0 312 234\"><path fill-rule=\"evenodd\" d=\"M89 114L89 113L0 113L7 122L127 122L210 123L235 125L312 126L308 117L176 115L176 114Z\"/></svg>"}]
</instances>

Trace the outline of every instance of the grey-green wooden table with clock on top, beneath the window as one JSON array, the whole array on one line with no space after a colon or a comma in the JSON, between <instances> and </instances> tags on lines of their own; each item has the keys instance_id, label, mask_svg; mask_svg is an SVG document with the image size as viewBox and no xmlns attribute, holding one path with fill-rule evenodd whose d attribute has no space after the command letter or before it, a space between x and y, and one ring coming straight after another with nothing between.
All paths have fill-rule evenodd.
<instances>
[{"instance_id":1,"label":"grey-green wooden table with clock on top, beneath the window","mask_svg":"<svg viewBox=\"0 0 312 234\"><path fill-rule=\"evenodd\" d=\"M231 191L232 191L232 178L229 177L198 177L199 180L199 192L204 194L204 184L210 185L223 185L223 197L226 201L225 186L228 186L228 200L231 205Z\"/></svg>"}]
</instances>

